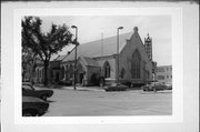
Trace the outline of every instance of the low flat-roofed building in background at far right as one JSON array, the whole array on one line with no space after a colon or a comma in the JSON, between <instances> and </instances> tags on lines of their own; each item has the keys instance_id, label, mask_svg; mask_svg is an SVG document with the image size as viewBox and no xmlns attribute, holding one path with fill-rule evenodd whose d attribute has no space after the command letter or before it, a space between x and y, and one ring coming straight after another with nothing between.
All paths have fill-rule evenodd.
<instances>
[{"instance_id":1,"label":"low flat-roofed building in background at far right","mask_svg":"<svg viewBox=\"0 0 200 132\"><path fill-rule=\"evenodd\" d=\"M163 84L172 83L172 65L157 67L157 81Z\"/></svg>"}]
</instances>

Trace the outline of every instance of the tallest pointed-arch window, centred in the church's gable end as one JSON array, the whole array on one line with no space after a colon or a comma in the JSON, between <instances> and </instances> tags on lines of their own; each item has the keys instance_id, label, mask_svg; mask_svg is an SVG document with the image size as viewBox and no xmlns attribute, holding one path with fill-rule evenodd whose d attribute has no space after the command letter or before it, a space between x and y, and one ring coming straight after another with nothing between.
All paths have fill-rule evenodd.
<instances>
[{"instance_id":1,"label":"tallest pointed-arch window, centred in the church's gable end","mask_svg":"<svg viewBox=\"0 0 200 132\"><path fill-rule=\"evenodd\" d=\"M131 74L132 79L140 79L140 53L136 50L132 54L132 62L131 62Z\"/></svg>"}]
</instances>

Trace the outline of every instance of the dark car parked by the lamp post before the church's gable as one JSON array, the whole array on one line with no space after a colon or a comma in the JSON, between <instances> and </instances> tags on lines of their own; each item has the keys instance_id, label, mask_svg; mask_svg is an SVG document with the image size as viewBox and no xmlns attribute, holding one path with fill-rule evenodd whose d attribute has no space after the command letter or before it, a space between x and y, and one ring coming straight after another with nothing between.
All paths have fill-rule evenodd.
<instances>
[{"instance_id":1,"label":"dark car parked by the lamp post before the church's gable","mask_svg":"<svg viewBox=\"0 0 200 132\"><path fill-rule=\"evenodd\" d=\"M127 85L120 83L112 83L111 85L104 87L106 91L126 91L127 89Z\"/></svg>"}]
</instances>

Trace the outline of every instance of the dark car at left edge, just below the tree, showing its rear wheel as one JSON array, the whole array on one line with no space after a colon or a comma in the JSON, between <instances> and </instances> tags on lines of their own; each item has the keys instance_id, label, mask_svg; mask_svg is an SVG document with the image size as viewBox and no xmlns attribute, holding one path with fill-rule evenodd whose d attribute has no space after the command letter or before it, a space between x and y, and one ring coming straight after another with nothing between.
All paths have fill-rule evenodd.
<instances>
[{"instance_id":1,"label":"dark car at left edge, just below the tree, showing its rear wheel","mask_svg":"<svg viewBox=\"0 0 200 132\"><path fill-rule=\"evenodd\" d=\"M47 98L52 97L52 94L53 94L52 90L36 90L31 84L28 83L22 84L23 97L34 97L47 101Z\"/></svg>"}]
</instances>

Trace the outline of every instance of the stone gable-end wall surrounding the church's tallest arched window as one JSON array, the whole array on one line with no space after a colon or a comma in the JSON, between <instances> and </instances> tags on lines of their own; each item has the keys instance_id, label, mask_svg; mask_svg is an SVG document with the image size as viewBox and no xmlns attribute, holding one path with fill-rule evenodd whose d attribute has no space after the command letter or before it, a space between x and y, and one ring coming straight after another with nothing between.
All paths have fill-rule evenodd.
<instances>
[{"instance_id":1,"label":"stone gable-end wall surrounding the church's tallest arched window","mask_svg":"<svg viewBox=\"0 0 200 132\"><path fill-rule=\"evenodd\" d=\"M136 50L139 51L141 57L139 79L132 79L131 75L131 60ZM124 69L126 72L123 79L120 78L120 80L131 81L133 83L146 83L147 81L152 80L152 63L147 55L144 45L138 32L134 32L130 40L127 40L127 44L121 49L119 61L119 73L122 69ZM148 73L149 79L146 79Z\"/></svg>"}]
</instances>

